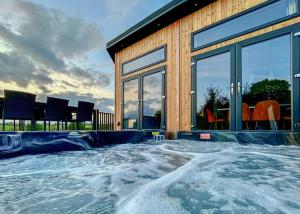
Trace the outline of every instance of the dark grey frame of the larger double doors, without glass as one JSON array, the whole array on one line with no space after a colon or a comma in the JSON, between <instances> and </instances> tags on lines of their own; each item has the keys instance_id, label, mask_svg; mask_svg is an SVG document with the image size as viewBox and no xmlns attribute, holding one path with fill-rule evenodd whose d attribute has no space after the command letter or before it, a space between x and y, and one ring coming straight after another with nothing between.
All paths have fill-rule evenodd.
<instances>
[{"instance_id":1,"label":"dark grey frame of the larger double doors, without glass","mask_svg":"<svg viewBox=\"0 0 300 214\"><path fill-rule=\"evenodd\" d=\"M192 130L195 131L209 131L209 132L220 132L220 130L197 130L196 128L196 112L197 112L197 64L196 62L201 59L205 59L211 56L215 56L221 53L226 52L230 48L233 48L233 58L234 60L231 61L232 65L231 68L231 81L234 83L234 94L232 102L231 100L231 121L235 121L235 125L230 125L229 131L244 131L244 132L274 132L272 130L243 130L241 127L241 94L237 94L237 86L236 83L241 81L241 48L246 47L252 44L260 43L263 41L271 40L283 35L291 34L291 130L276 130L276 133L286 133L286 132L299 132L300 131L300 79L296 78L295 75L300 73L300 36L296 36L295 33L300 33L300 23L293 24L272 32L268 32L262 35L255 36L253 38L249 38L225 47L221 47L212 51L208 51L199 55L192 57L192 91L194 94L191 94L191 126ZM231 96L232 97L232 96ZM232 98L231 98L232 99ZM234 114L234 115L233 115ZM226 130L223 130L226 131Z\"/></svg>"}]
</instances>

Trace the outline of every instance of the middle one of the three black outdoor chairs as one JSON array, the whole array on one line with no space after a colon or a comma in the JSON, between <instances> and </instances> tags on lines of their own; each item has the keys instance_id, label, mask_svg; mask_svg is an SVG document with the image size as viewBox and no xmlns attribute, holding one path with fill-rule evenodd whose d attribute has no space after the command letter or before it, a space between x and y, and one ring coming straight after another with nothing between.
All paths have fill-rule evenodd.
<instances>
[{"instance_id":1,"label":"middle one of the three black outdoor chairs","mask_svg":"<svg viewBox=\"0 0 300 214\"><path fill-rule=\"evenodd\" d=\"M59 130L59 123L62 122L62 130L64 129L64 122L66 122L66 110L68 108L69 100L47 97L47 103L45 106L45 114L44 114L44 130L46 131L47 122L49 125L50 131L50 123L51 121L55 121L57 123L57 130Z\"/></svg>"}]
</instances>

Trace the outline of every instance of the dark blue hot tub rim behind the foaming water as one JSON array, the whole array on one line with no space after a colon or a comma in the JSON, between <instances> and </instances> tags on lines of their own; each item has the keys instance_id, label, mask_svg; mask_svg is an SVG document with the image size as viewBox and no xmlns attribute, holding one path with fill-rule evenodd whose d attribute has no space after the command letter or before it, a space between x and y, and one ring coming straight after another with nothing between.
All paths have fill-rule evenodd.
<instances>
[{"instance_id":1,"label":"dark blue hot tub rim behind the foaming water","mask_svg":"<svg viewBox=\"0 0 300 214\"><path fill-rule=\"evenodd\" d=\"M156 134L158 132L155 132ZM159 132L167 139L241 144L300 145L296 132ZM81 151L153 140L152 131L0 132L0 158L62 151ZM209 139L201 139L201 134Z\"/></svg>"}]
</instances>

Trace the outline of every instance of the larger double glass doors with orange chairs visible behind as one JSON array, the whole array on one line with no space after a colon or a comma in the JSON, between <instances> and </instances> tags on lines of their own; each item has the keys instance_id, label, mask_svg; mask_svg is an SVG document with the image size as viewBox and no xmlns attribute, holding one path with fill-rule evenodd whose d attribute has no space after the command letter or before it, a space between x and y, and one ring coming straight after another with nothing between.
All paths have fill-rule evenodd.
<instances>
[{"instance_id":1,"label":"larger double glass doors with orange chairs visible behind","mask_svg":"<svg viewBox=\"0 0 300 214\"><path fill-rule=\"evenodd\" d=\"M294 25L194 57L193 129L299 131L299 36Z\"/></svg>"}]
</instances>

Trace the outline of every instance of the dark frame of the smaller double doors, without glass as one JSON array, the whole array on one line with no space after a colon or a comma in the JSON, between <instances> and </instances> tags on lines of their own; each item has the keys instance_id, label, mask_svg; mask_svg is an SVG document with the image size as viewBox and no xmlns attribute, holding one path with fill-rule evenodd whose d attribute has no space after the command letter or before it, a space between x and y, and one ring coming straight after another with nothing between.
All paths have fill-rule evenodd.
<instances>
[{"instance_id":1,"label":"dark frame of the smaller double doors, without glass","mask_svg":"<svg viewBox=\"0 0 300 214\"><path fill-rule=\"evenodd\" d=\"M163 73L164 71L164 73ZM121 127L122 130L147 130L147 131L157 131L157 129L144 129L143 128L143 78L145 76L155 74L155 73L162 73L162 96L165 96L165 99L162 98L162 107L161 107L161 129L166 130L166 121L167 121L167 66L161 66L159 68L151 69L141 74L137 74L132 77L124 78L121 83ZM138 124L137 129L124 129L124 83L131 81L131 80L138 80Z\"/></svg>"}]
</instances>

